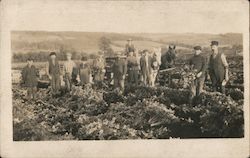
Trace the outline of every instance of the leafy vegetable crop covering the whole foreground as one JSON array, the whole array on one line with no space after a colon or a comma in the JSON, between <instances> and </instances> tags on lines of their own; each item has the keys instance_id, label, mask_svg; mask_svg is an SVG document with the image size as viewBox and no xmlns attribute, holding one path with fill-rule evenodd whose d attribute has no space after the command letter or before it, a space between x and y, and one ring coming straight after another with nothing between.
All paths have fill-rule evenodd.
<instances>
[{"instance_id":1,"label":"leafy vegetable crop covering the whole foreground","mask_svg":"<svg viewBox=\"0 0 250 158\"><path fill-rule=\"evenodd\" d=\"M202 93L188 104L182 89L127 87L124 95L73 87L27 101L13 85L13 137L22 140L115 140L243 137L243 95Z\"/></svg>"}]
</instances>

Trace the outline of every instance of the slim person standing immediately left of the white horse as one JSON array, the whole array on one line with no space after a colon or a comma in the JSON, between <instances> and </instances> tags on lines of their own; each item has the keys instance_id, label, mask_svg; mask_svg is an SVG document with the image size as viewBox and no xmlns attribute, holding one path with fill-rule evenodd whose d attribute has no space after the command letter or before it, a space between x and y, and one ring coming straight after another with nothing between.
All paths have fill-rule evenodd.
<instances>
[{"instance_id":1,"label":"slim person standing immediately left of the white horse","mask_svg":"<svg viewBox=\"0 0 250 158\"><path fill-rule=\"evenodd\" d=\"M140 60L141 73L143 76L144 85L148 85L151 82L151 64L151 57L149 56L149 52L148 50L144 50Z\"/></svg>"}]
</instances>

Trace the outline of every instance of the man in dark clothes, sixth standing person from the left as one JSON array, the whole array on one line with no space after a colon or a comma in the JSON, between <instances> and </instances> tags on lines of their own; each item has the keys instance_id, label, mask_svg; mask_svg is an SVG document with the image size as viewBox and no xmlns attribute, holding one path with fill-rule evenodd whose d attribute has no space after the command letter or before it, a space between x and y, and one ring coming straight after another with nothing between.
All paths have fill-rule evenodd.
<instances>
[{"instance_id":1,"label":"man in dark clothes, sixth standing person from the left","mask_svg":"<svg viewBox=\"0 0 250 158\"><path fill-rule=\"evenodd\" d=\"M124 82L127 74L127 61L123 56L117 56L115 63L113 64L114 72L114 87L119 92L124 91Z\"/></svg>"}]
</instances>

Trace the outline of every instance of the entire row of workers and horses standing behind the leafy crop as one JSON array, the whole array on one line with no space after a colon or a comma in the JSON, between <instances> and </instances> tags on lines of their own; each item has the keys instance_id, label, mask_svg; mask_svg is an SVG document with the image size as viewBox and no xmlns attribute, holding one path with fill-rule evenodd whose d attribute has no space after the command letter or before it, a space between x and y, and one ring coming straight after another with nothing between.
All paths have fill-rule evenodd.
<instances>
[{"instance_id":1,"label":"entire row of workers and horses standing behind the leafy crop","mask_svg":"<svg viewBox=\"0 0 250 158\"><path fill-rule=\"evenodd\" d=\"M188 63L190 69L196 72L195 80L190 85L192 96L199 95L203 90L206 71L209 70L209 76L212 81L214 91L225 93L225 85L228 81L228 63L225 55L218 51L218 41L211 42L212 54L209 62L202 55L200 46L194 47L194 56ZM72 88L73 71L76 69L76 80L80 86L94 83L96 88L103 85L105 76L105 60L103 55L98 56L92 66L86 58L82 58L81 64L77 64L71 59L70 53L66 54L67 60L61 67L55 52L49 55L49 61L46 66L46 73L51 81L51 92L57 95L61 92L62 85L67 92ZM131 85L143 83L147 86L155 86L156 76L160 67L173 67L175 59L175 46L170 45L169 50L161 55L161 49L155 48L153 51L143 50L140 53L135 49L132 40L129 39L125 46L125 55L117 55L112 65L112 83L114 88L123 92L125 80ZM128 74L128 77L126 77ZM33 59L27 60L27 66L22 71L22 78L27 87L28 98L35 98L38 71L33 65Z\"/></svg>"}]
</instances>

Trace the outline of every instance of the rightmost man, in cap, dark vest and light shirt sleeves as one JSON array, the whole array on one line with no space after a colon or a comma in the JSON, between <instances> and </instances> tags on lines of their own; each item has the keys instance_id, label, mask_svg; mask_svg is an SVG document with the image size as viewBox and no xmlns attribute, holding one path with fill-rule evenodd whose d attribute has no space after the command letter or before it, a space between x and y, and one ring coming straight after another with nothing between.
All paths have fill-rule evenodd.
<instances>
[{"instance_id":1,"label":"rightmost man, in cap, dark vest and light shirt sleeves","mask_svg":"<svg viewBox=\"0 0 250 158\"><path fill-rule=\"evenodd\" d=\"M218 41L211 42L212 54L209 59L209 75L214 91L225 94L225 85L229 80L226 56L218 51Z\"/></svg>"}]
</instances>

